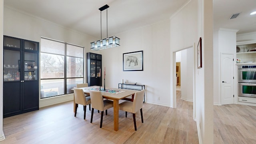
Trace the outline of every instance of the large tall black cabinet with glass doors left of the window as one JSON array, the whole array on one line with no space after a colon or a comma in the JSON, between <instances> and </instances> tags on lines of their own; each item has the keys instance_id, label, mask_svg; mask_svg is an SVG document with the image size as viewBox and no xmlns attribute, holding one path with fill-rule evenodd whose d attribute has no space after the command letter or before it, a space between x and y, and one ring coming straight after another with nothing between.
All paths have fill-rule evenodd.
<instances>
[{"instance_id":1,"label":"large tall black cabinet with glass doors left of the window","mask_svg":"<svg viewBox=\"0 0 256 144\"><path fill-rule=\"evenodd\" d=\"M4 118L39 109L39 42L4 36Z\"/></svg>"}]
</instances>

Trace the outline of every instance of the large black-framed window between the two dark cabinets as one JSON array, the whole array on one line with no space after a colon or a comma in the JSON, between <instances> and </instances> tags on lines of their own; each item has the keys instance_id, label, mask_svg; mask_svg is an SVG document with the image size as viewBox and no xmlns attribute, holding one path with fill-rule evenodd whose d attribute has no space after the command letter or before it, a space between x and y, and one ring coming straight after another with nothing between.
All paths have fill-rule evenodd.
<instances>
[{"instance_id":1,"label":"large black-framed window between the two dark cabinets","mask_svg":"<svg viewBox=\"0 0 256 144\"><path fill-rule=\"evenodd\" d=\"M84 82L84 47L41 38L41 98L70 94Z\"/></svg>"}]
</instances>

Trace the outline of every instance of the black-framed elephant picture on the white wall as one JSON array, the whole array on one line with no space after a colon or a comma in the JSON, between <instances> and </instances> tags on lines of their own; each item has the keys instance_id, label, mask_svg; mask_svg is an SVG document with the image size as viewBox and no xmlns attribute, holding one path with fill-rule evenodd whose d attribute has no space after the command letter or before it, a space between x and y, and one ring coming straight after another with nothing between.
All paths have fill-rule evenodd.
<instances>
[{"instance_id":1,"label":"black-framed elephant picture on the white wall","mask_svg":"<svg viewBox=\"0 0 256 144\"><path fill-rule=\"evenodd\" d=\"M123 54L123 71L143 71L143 50Z\"/></svg>"}]
</instances>

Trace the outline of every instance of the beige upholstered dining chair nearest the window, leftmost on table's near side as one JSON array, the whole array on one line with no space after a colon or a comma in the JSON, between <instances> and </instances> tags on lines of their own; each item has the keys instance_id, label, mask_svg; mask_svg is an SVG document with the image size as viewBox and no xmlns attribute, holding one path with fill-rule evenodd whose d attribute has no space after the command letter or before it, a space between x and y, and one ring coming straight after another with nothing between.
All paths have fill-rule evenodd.
<instances>
[{"instance_id":1,"label":"beige upholstered dining chair nearest the window, leftmost on table's near side","mask_svg":"<svg viewBox=\"0 0 256 144\"><path fill-rule=\"evenodd\" d=\"M75 117L76 117L76 111L78 104L82 104L84 106L84 120L86 116L86 105L91 105L91 98L90 96L84 96L84 91L81 88L74 88L74 96L75 96L75 103L76 103L76 109L75 109Z\"/></svg>"}]
</instances>

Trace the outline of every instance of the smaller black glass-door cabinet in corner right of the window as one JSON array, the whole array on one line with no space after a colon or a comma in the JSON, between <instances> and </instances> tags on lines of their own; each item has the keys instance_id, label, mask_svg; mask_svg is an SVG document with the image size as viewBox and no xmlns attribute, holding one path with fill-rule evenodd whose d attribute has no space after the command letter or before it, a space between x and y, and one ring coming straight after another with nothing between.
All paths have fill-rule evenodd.
<instances>
[{"instance_id":1,"label":"smaller black glass-door cabinet in corner right of the window","mask_svg":"<svg viewBox=\"0 0 256 144\"><path fill-rule=\"evenodd\" d=\"M100 86L102 75L101 54L87 53L87 83L88 86ZM101 72L100 72L101 69ZM102 84L101 84L102 85Z\"/></svg>"}]
</instances>

